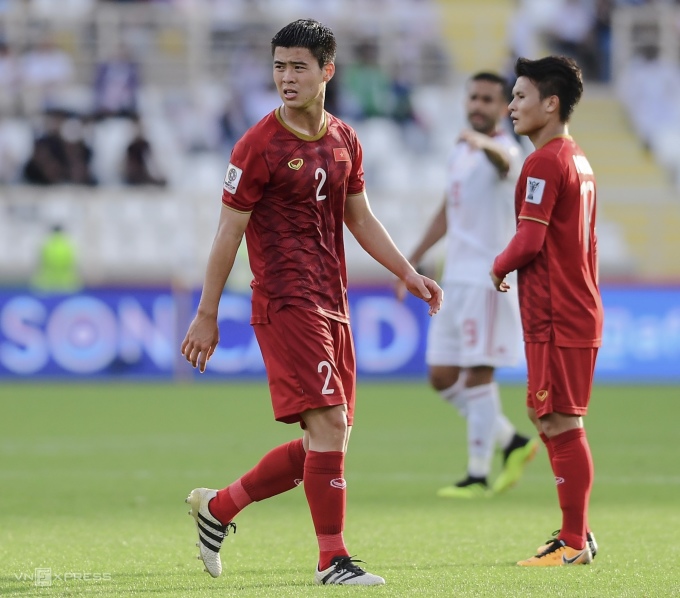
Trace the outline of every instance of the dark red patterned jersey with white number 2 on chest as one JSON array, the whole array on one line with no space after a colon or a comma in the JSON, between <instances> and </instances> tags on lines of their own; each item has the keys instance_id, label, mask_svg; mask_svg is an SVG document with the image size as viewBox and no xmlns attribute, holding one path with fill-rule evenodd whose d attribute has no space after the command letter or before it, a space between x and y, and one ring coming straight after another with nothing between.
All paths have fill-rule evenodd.
<instances>
[{"instance_id":1,"label":"dark red patterned jersey with white number 2 on chest","mask_svg":"<svg viewBox=\"0 0 680 598\"><path fill-rule=\"evenodd\" d=\"M250 212L246 243L257 306L298 305L348 321L344 214L347 195L364 190L354 130L325 113L310 137L288 127L279 108L250 128L231 154L222 202ZM262 319L265 318L265 319Z\"/></svg>"}]
</instances>

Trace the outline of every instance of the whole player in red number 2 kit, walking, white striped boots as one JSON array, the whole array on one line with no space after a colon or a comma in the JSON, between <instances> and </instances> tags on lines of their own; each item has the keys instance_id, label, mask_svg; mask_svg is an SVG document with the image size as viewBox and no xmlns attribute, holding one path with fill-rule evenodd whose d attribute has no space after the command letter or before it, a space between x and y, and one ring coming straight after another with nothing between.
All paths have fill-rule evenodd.
<instances>
[{"instance_id":1,"label":"whole player in red number 2 kit, walking, white striped boots","mask_svg":"<svg viewBox=\"0 0 680 598\"><path fill-rule=\"evenodd\" d=\"M247 505L303 483L319 544L315 582L379 585L343 540L344 457L354 417L355 356L349 327L343 224L380 264L426 301L443 293L418 274L373 215L354 130L324 110L335 73L333 32L298 20L272 39L274 81L283 102L245 133L231 155L222 212L197 314L182 353L199 371L219 342L217 310L245 234L253 272L252 317L274 416L299 422L303 437L276 447L216 491L193 490L200 558L220 575L219 550Z\"/></svg>"}]
</instances>

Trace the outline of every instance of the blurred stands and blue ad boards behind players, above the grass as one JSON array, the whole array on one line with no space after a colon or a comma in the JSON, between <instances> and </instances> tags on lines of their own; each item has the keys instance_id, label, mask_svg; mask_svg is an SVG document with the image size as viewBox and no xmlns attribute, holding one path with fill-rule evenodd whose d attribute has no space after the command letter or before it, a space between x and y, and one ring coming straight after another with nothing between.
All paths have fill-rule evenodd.
<instances>
[{"instance_id":1,"label":"blurred stands and blue ad boards behind players, above the grass","mask_svg":"<svg viewBox=\"0 0 680 598\"><path fill-rule=\"evenodd\" d=\"M1 3L0 31L17 59L47 41L72 70L63 81L2 92L0 377L191 378L177 347L198 300L220 209L233 143L223 123L238 102L251 120L277 105L267 64L269 39L281 23L308 15L336 30L333 105L363 141L375 212L408 252L440 201L443 164L463 124L466 77L481 69L509 73L513 54L527 47L514 41L518 36L530 38L537 55L554 49L554 35L546 32L560 4L70 0L57 9L37 0ZM587 73L571 126L598 178L607 317L597 375L601 381L680 382L680 123L668 114L664 143L650 144L623 95L631 93L624 82L638 51L650 44L680 73L680 7L627 4L610 6L607 50L574 48L600 64ZM348 99L343 74L352 68L355 46L367 40L377 49L377 68L408 93L408 118L360 114ZM91 118L96 67L121 47L140 66L138 112L166 186L124 184L119 163L130 119ZM680 104L674 89L664 88L670 105ZM643 101L640 111L654 109ZM23 180L46 108L82 119L96 185ZM75 294L31 287L41 243L57 223L78 251L83 288ZM389 275L351 236L347 245L360 374L422 378L422 306L397 303ZM424 266L436 273L440 259L441 252L432 252ZM222 304L223 346L213 378L262 377L247 325L248 275L242 260ZM523 370L500 376L521 381Z\"/></svg>"}]
</instances>

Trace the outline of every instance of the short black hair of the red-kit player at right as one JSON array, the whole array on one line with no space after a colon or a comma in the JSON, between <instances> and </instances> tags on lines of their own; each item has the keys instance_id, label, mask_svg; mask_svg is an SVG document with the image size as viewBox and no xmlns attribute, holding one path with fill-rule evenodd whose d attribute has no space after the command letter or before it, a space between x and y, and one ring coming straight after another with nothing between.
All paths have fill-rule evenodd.
<instances>
[{"instance_id":1,"label":"short black hair of the red-kit player at right","mask_svg":"<svg viewBox=\"0 0 680 598\"><path fill-rule=\"evenodd\" d=\"M560 121L566 123L583 95L583 75L573 58L546 56L538 60L518 58L518 77L531 79L541 99L557 96L560 100Z\"/></svg>"}]
</instances>

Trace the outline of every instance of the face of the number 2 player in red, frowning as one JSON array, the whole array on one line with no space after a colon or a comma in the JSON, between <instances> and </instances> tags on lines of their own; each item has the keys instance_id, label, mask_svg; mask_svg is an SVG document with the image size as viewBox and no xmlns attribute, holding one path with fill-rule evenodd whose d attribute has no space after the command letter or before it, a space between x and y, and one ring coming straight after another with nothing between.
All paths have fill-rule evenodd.
<instances>
[{"instance_id":1,"label":"face of the number 2 player in red, frowning","mask_svg":"<svg viewBox=\"0 0 680 598\"><path fill-rule=\"evenodd\" d=\"M323 102L324 89L335 73L335 65L323 68L307 48L274 50L274 83L285 106L292 109L308 108Z\"/></svg>"}]
</instances>

